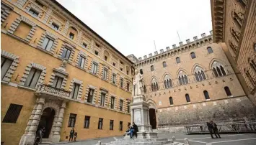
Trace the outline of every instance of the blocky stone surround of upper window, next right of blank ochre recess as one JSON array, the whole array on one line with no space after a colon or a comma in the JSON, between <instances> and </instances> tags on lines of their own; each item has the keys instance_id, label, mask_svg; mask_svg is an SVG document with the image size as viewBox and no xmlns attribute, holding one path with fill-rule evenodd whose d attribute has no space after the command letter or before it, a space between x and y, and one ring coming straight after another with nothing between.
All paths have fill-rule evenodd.
<instances>
[{"instance_id":1,"label":"blocky stone surround of upper window, next right of blank ochre recess","mask_svg":"<svg viewBox=\"0 0 256 145\"><path fill-rule=\"evenodd\" d=\"M40 40L37 42L38 47L43 49L43 41L45 40L45 37L50 37L50 39L53 39L53 46L50 49L50 53L54 54L55 50L58 46L58 37L55 34L52 34L48 31L45 31L42 36L40 37Z\"/></svg>"}]
</instances>

